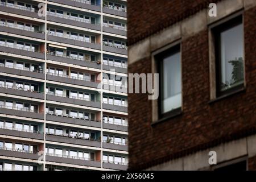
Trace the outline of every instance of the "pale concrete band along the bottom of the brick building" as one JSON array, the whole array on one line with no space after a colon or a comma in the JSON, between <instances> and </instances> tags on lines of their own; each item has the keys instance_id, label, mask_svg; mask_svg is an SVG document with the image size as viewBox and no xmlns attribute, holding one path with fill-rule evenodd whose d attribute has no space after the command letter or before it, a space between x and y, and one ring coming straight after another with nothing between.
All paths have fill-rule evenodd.
<instances>
[{"instance_id":1,"label":"pale concrete band along the bottom of the brick building","mask_svg":"<svg viewBox=\"0 0 256 182\"><path fill-rule=\"evenodd\" d=\"M246 138L233 140L231 142L222 143L208 150L198 151L195 154L170 160L169 162L159 164L146 170L209 170L211 167L208 160L210 158L209 151L216 151L217 164L221 164L233 159L248 156L248 158L256 155L256 135Z\"/></svg>"}]
</instances>

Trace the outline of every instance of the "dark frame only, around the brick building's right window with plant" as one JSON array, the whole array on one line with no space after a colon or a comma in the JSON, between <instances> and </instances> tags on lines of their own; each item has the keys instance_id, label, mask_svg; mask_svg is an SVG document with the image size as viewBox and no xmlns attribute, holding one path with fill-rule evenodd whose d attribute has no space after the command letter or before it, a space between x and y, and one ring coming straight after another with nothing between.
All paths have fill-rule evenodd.
<instances>
[{"instance_id":1,"label":"dark frame only, around the brick building's right window with plant","mask_svg":"<svg viewBox=\"0 0 256 182\"><path fill-rule=\"evenodd\" d=\"M238 25L243 25L243 15L237 15L232 19L227 20L226 22L223 22L221 24L218 24L216 27L211 28L213 40L214 40L214 56L215 56L215 79L216 79L216 98L222 97L222 96L228 96L229 94L232 94L236 92L237 90L243 89L245 86L245 77L243 77L243 83L237 86L234 86L230 89L221 91L221 39L220 34L221 32L225 30L229 30L230 28L236 27ZM244 34L243 34L244 38ZM244 47L244 43L243 43ZM245 55L243 55L243 69L245 66Z\"/></svg>"}]
</instances>

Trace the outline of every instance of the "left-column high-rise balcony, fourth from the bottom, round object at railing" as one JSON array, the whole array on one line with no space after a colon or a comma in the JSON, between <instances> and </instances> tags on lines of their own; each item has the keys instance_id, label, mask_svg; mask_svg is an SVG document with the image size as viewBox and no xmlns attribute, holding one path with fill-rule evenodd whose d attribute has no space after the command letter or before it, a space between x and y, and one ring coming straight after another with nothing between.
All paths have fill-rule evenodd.
<instances>
[{"instance_id":1,"label":"left-column high-rise balcony, fourth from the bottom, round object at railing","mask_svg":"<svg viewBox=\"0 0 256 182\"><path fill-rule=\"evenodd\" d=\"M37 92L34 90L28 90L28 89L19 88L16 86L9 86L9 85L0 85L0 93L12 94L15 96L23 96L28 98L38 98L42 100L44 99L43 92Z\"/></svg>"}]
</instances>

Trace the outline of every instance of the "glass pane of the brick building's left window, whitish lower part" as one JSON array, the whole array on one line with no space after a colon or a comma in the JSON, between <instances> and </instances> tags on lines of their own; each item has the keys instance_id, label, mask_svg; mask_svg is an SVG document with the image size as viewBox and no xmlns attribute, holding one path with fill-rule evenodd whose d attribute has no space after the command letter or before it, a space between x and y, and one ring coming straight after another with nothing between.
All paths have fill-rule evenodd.
<instances>
[{"instance_id":1,"label":"glass pane of the brick building's left window, whitish lower part","mask_svg":"<svg viewBox=\"0 0 256 182\"><path fill-rule=\"evenodd\" d=\"M180 52L163 59L162 113L181 107Z\"/></svg>"}]
</instances>

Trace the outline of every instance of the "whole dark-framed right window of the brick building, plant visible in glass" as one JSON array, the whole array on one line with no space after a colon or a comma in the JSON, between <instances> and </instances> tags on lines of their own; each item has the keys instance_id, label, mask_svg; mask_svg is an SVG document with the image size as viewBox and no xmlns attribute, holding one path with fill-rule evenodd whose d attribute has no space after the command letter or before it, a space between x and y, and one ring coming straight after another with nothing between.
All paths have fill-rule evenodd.
<instances>
[{"instance_id":1,"label":"whole dark-framed right window of the brick building, plant visible in glass","mask_svg":"<svg viewBox=\"0 0 256 182\"><path fill-rule=\"evenodd\" d=\"M243 24L242 16L213 28L216 57L216 95L243 88Z\"/></svg>"}]
</instances>

